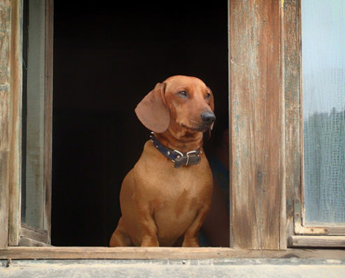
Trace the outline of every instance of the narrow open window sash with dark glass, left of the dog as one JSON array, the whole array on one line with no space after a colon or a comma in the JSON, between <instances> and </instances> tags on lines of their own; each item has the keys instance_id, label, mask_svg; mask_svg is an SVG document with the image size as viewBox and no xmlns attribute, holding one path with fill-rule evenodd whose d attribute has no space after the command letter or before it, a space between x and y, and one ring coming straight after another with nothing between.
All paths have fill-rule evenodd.
<instances>
[{"instance_id":1,"label":"narrow open window sash with dark glass, left of the dog","mask_svg":"<svg viewBox=\"0 0 345 278\"><path fill-rule=\"evenodd\" d=\"M22 224L19 244L49 244L52 136L49 4L30 0L24 1L23 7Z\"/></svg>"}]
</instances>

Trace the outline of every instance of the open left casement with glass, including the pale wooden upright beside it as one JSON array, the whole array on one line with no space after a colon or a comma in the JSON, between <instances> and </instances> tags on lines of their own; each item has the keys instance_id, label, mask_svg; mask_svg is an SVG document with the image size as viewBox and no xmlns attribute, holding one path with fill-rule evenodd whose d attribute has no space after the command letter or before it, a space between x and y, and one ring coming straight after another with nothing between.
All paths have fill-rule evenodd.
<instances>
[{"instance_id":1,"label":"open left casement with glass, including the pale wooden upright beside it","mask_svg":"<svg viewBox=\"0 0 345 278\"><path fill-rule=\"evenodd\" d=\"M52 2L14 1L8 245L49 245ZM5 195L6 196L6 195Z\"/></svg>"}]
</instances>

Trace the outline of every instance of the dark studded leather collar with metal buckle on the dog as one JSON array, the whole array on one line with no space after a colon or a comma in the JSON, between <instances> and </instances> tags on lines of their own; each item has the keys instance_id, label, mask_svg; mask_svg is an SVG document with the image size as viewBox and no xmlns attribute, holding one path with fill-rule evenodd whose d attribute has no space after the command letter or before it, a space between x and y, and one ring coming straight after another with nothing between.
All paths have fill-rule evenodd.
<instances>
[{"instance_id":1,"label":"dark studded leather collar with metal buckle on the dog","mask_svg":"<svg viewBox=\"0 0 345 278\"><path fill-rule=\"evenodd\" d=\"M202 153L200 149L197 149L196 151L187 152L183 154L182 152L179 152L176 149L169 149L168 147L165 147L162 145L160 141L158 141L157 138L155 138L155 135L153 132L151 132L150 138L153 142L153 145L160 151L165 157L169 158L171 161L173 161L174 167L179 168L181 166L187 166L187 165L195 165L200 163L201 157L200 154Z\"/></svg>"}]
</instances>

